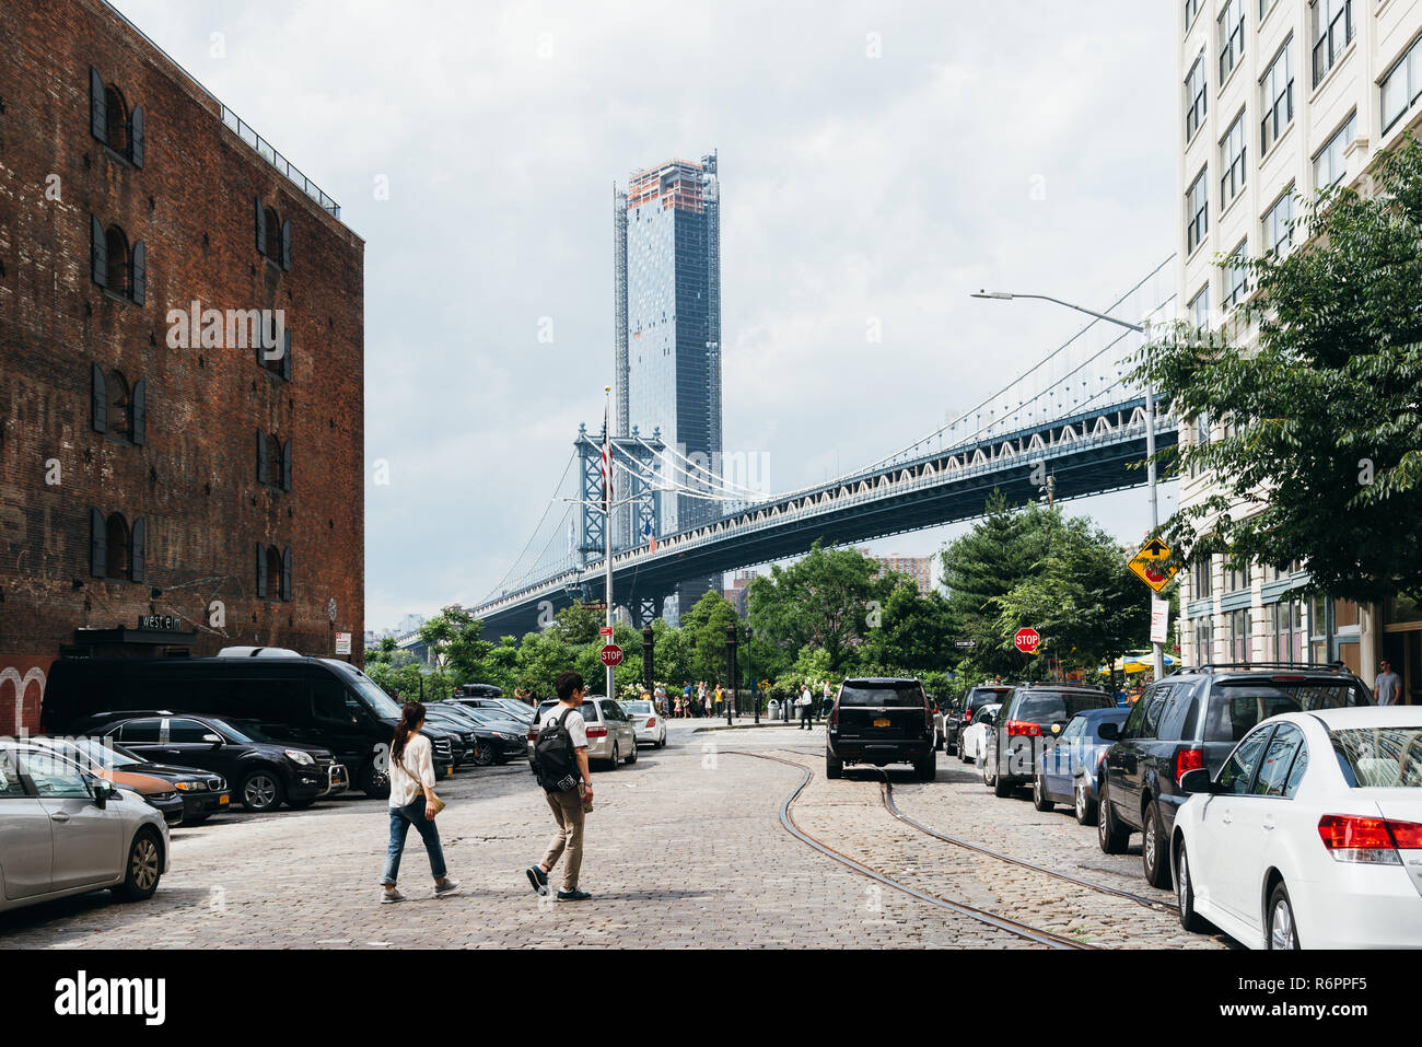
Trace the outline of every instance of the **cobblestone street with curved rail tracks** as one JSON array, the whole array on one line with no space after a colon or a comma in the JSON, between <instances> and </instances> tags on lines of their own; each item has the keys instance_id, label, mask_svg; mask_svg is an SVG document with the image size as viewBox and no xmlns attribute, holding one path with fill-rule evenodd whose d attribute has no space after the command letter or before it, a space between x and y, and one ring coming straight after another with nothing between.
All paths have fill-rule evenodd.
<instances>
[{"instance_id":1,"label":"cobblestone street with curved rail tracks","mask_svg":"<svg viewBox=\"0 0 1422 1047\"><path fill-rule=\"evenodd\" d=\"M401 888L410 900L378 905L384 804L338 798L306 812L233 814L173 832L172 871L148 903L104 892L0 916L0 942L23 947L390 947L390 946L923 946L1039 947L1007 930L940 909L812 851L781 825L782 802L812 771L793 805L799 827L843 855L926 895L1102 946L1219 947L1186 935L1175 915L1072 885L930 838L894 819L880 777L850 770L823 778L823 731L785 727L697 730L674 721L665 750L637 764L594 768L582 886L593 900L559 905L528 888L552 828L525 764L461 771L441 782L439 815L459 895L429 896L418 838ZM1102 855L1095 829L1066 812L995 799L977 775L940 754L933 784L890 770L904 815L933 829L1074 876L1159 898L1140 878L1139 844ZM1024 794L1025 795L1025 794ZM556 885L556 875L555 875Z\"/></svg>"}]
</instances>

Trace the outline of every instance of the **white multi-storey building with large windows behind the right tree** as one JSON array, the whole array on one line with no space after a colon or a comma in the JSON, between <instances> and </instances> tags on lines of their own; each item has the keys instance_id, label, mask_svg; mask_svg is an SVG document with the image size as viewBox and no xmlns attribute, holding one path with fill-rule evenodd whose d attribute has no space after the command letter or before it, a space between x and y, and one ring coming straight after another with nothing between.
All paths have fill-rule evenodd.
<instances>
[{"instance_id":1,"label":"white multi-storey building with large windows behind the right tree","mask_svg":"<svg viewBox=\"0 0 1422 1047\"><path fill-rule=\"evenodd\" d=\"M1219 327L1250 287L1243 260L1293 249L1294 193L1357 185L1381 149L1422 125L1422 0L1177 0L1179 300ZM1182 442L1220 434L1187 424ZM1180 478L1180 506L1217 489ZM1209 522L1203 524L1204 528ZM1307 573L1229 570L1213 556L1183 572L1186 663L1341 660L1371 680L1379 657L1422 701L1422 607L1303 600Z\"/></svg>"}]
</instances>

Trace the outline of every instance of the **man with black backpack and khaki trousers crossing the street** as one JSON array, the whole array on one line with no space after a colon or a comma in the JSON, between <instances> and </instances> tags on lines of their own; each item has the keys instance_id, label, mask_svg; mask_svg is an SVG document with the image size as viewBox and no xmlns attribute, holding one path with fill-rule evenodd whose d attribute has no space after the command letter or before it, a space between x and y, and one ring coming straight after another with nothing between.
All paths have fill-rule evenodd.
<instances>
[{"instance_id":1,"label":"man with black backpack and khaki trousers crossing the street","mask_svg":"<svg viewBox=\"0 0 1422 1047\"><path fill-rule=\"evenodd\" d=\"M557 822L557 832L549 841L547 854L538 865L528 868L529 883L540 893L547 893L547 875L557 865L559 858L567 858L563 863L563 889L557 892L559 902L586 902L592 895L577 888L577 873L583 866L583 819L586 811L593 804L593 781L587 770L587 723L579 711L583 704L586 686L579 673L562 673L555 684L557 689L557 704L543 714L539 724L539 741L535 744L535 757L539 767L539 784L543 785L549 809ZM566 731L566 745L550 744L547 757L540 755L543 745L543 728L557 723ZM562 733L559 734L562 740ZM560 748L572 748L572 758L560 753ZM547 765L543 765L547 764Z\"/></svg>"}]
</instances>

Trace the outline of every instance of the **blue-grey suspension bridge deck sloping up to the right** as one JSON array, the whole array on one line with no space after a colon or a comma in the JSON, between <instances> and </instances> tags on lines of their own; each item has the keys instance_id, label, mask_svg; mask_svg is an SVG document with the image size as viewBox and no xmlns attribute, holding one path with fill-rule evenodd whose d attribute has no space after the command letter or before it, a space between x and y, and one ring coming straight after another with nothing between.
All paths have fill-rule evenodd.
<instances>
[{"instance_id":1,"label":"blue-grey suspension bridge deck sloping up to the right","mask_svg":"<svg viewBox=\"0 0 1422 1047\"><path fill-rule=\"evenodd\" d=\"M1179 422L1162 411L1156 447L1177 442ZM981 516L1001 491L1012 504L1041 494L1044 474L1058 499L1085 498L1146 482L1143 401L1112 404L964 448L842 477L830 484L751 505L694 531L613 555L613 593L638 625L647 600L665 597L684 578L735 570L808 552L818 541L848 545ZM1039 465L1045 464L1045 469ZM1035 472L1035 477L1034 477ZM502 595L472 609L483 636L522 636L574 597L603 597L603 565L593 562ZM540 620L542 615L542 620Z\"/></svg>"}]
</instances>

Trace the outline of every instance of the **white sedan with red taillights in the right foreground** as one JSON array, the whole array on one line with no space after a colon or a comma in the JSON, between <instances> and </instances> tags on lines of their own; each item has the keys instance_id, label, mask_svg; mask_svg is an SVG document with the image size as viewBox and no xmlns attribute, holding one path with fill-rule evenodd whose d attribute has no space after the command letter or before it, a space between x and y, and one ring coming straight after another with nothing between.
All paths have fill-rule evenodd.
<instances>
[{"instance_id":1,"label":"white sedan with red taillights in the right foreground","mask_svg":"<svg viewBox=\"0 0 1422 1047\"><path fill-rule=\"evenodd\" d=\"M1422 708L1284 713L1189 771L1180 923L1254 949L1422 947Z\"/></svg>"}]
</instances>

